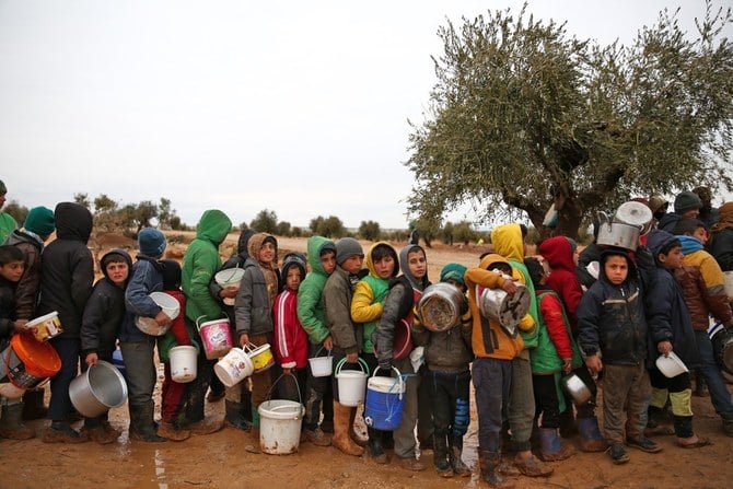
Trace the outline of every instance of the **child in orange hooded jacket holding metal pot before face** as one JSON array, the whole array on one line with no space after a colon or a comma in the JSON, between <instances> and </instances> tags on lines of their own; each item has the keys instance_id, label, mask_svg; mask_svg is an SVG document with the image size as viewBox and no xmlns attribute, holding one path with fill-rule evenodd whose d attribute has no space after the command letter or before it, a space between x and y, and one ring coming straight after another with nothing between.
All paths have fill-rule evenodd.
<instances>
[{"instance_id":1,"label":"child in orange hooded jacket holding metal pot before face","mask_svg":"<svg viewBox=\"0 0 733 489\"><path fill-rule=\"evenodd\" d=\"M504 275L513 280L504 278ZM481 478L492 487L507 486L499 471L503 415L507 412L512 383L512 360L522 352L524 344L520 335L509 334L498 322L480 314L476 286L502 289L513 294L517 290L514 280L519 279L520 272L497 254L484 256L479 266L469 268L465 275L468 305L474 318L470 344L476 354L472 376L478 412L478 462ZM535 328L535 322L526 314L520 319L519 329L532 328Z\"/></svg>"}]
</instances>

